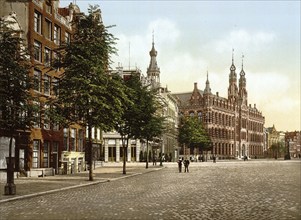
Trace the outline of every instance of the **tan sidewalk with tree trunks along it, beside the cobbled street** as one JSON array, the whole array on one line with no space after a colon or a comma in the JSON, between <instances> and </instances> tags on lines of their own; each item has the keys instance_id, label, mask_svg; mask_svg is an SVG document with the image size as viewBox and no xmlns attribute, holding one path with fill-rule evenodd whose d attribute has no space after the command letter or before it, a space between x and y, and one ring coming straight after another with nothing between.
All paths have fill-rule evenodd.
<instances>
[{"instance_id":1,"label":"tan sidewalk with tree trunks along it, beside the cobbled street","mask_svg":"<svg viewBox=\"0 0 301 220\"><path fill-rule=\"evenodd\" d=\"M77 174L55 175L45 177L20 177L14 180L16 185L16 195L4 195L6 182L0 182L0 204L22 198L53 193L71 188L84 187L122 178L128 178L143 173L160 170L163 167L152 166L145 168L145 163L127 164L126 175L122 174L122 163L114 166L103 166L93 170L94 181L89 181L89 171Z\"/></svg>"}]
</instances>

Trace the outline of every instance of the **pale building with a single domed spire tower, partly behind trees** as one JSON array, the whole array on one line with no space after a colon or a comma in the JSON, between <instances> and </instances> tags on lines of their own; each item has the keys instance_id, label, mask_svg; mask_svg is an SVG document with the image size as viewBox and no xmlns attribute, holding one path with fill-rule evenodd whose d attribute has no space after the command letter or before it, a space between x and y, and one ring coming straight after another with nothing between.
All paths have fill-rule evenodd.
<instances>
[{"instance_id":1,"label":"pale building with a single domed spire tower, partly behind trees","mask_svg":"<svg viewBox=\"0 0 301 220\"><path fill-rule=\"evenodd\" d=\"M163 106L161 115L166 118L166 131L161 137L158 137L157 142L150 143L150 151L152 156L159 158L160 153L164 155L166 161L175 161L178 155L177 142L177 126L178 126L178 106L177 100L172 96L167 88L161 87L160 84L160 68L158 67L156 56L157 51L152 43L150 54L150 64L147 68L147 74L144 76L139 69L124 69L118 66L113 72L118 73L123 79L128 79L132 75L139 75L143 85L150 85L152 88L158 89L158 94L161 97L160 101ZM121 136L118 132L103 133L102 147L100 150L101 158L105 162L115 161L120 162L123 159ZM145 155L146 143L143 140L130 140L129 149L127 152L127 161L140 161L140 154Z\"/></svg>"}]
</instances>

